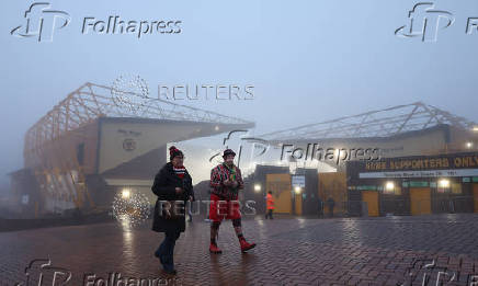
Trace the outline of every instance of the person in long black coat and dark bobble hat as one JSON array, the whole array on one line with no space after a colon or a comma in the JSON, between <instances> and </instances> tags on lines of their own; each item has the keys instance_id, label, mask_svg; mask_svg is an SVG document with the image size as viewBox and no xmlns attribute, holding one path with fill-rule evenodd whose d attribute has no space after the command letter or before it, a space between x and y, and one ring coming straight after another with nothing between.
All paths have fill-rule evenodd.
<instances>
[{"instance_id":1,"label":"person in long black coat and dark bobble hat","mask_svg":"<svg viewBox=\"0 0 478 286\"><path fill-rule=\"evenodd\" d=\"M164 272L177 274L173 253L175 241L185 230L184 208L194 201L191 175L183 165L184 156L174 146L169 148L170 162L156 174L151 191L158 196L152 219L152 230L164 232L164 240L155 252Z\"/></svg>"}]
</instances>

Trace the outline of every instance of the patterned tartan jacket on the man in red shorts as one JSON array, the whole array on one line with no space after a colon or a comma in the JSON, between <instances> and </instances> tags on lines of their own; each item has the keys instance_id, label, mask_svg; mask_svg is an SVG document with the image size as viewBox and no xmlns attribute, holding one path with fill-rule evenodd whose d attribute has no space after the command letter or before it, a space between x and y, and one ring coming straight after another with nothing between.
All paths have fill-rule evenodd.
<instances>
[{"instance_id":1,"label":"patterned tartan jacket on the man in red shorts","mask_svg":"<svg viewBox=\"0 0 478 286\"><path fill-rule=\"evenodd\" d=\"M229 180L231 175L230 171L224 164L218 164L210 170L210 193L219 196L221 199L237 199L238 191L244 188L241 170L236 165L232 165L232 168L236 172L236 181L238 182L236 188L224 185L224 182Z\"/></svg>"}]
</instances>

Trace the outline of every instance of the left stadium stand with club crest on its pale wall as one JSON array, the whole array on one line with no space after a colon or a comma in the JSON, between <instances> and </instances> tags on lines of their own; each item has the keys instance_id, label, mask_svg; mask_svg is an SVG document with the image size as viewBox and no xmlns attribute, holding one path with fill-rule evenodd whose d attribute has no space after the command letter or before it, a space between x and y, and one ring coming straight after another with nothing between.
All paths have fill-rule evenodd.
<instances>
[{"instance_id":1,"label":"left stadium stand with club crest on its pale wall","mask_svg":"<svg viewBox=\"0 0 478 286\"><path fill-rule=\"evenodd\" d=\"M66 209L111 208L117 194L150 191L169 158L167 144L254 123L160 99L86 83L25 135L24 168L11 173L19 210L39 217Z\"/></svg>"}]
</instances>

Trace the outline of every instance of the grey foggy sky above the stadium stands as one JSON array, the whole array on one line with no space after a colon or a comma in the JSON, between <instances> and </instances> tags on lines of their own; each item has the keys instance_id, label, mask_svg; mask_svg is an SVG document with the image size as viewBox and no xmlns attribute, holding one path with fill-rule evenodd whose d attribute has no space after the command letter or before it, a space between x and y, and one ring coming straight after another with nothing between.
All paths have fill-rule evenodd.
<instances>
[{"instance_id":1,"label":"grey foggy sky above the stadium stands","mask_svg":"<svg viewBox=\"0 0 478 286\"><path fill-rule=\"evenodd\" d=\"M478 33L465 33L475 0L435 1L456 18L436 43L394 35L417 3L408 0L50 1L71 16L53 43L10 35L32 1L2 3L1 184L23 167L30 126L84 82L111 85L124 73L147 80L152 95L158 84L252 84L254 100L180 103L254 121L254 134L416 101L478 122ZM81 34L84 16L110 15L181 20L182 32Z\"/></svg>"}]
</instances>

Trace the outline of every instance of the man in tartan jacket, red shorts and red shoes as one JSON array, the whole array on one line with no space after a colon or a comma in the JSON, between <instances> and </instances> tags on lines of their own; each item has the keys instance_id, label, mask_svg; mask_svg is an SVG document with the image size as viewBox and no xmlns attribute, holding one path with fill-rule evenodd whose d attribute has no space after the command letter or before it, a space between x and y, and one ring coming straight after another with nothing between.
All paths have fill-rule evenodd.
<instances>
[{"instance_id":1,"label":"man in tartan jacket, red shorts and red shoes","mask_svg":"<svg viewBox=\"0 0 478 286\"><path fill-rule=\"evenodd\" d=\"M210 253L221 253L217 247L216 237L223 219L231 219L236 234L239 239L242 252L255 247L255 243L249 243L242 236L241 213L238 201L238 192L244 187L241 171L234 164L236 153L227 149L223 153L224 162L210 170Z\"/></svg>"}]
</instances>

